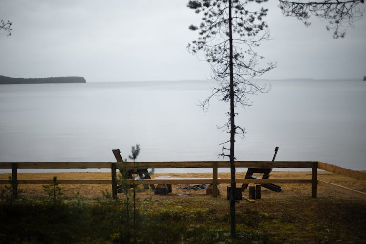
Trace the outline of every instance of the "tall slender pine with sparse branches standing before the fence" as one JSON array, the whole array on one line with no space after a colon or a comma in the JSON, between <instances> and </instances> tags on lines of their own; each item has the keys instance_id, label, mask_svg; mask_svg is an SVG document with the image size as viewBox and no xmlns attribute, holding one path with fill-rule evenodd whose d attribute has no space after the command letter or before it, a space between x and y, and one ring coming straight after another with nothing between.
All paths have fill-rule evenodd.
<instances>
[{"instance_id":1,"label":"tall slender pine with sparse branches standing before the fence","mask_svg":"<svg viewBox=\"0 0 366 244\"><path fill-rule=\"evenodd\" d=\"M229 147L223 146L221 156L230 159L231 194L230 226L231 236L236 236L235 226L235 135L244 136L244 129L235 124L235 108L238 104L249 105L247 96L266 92L265 86L253 83L250 78L258 77L273 69L275 64L258 67L258 60L263 58L255 51L261 41L269 37L268 26L264 21L267 9L258 4L267 0L193 0L188 7L202 14L199 26L191 25L191 30L198 30L197 40L188 44L188 49L196 54L204 54L204 60L211 65L213 79L218 85L212 94L202 103L207 108L213 96L230 104L228 121L223 128L230 133ZM247 6L249 3L250 8ZM253 10L257 9L257 10Z\"/></svg>"}]
</instances>

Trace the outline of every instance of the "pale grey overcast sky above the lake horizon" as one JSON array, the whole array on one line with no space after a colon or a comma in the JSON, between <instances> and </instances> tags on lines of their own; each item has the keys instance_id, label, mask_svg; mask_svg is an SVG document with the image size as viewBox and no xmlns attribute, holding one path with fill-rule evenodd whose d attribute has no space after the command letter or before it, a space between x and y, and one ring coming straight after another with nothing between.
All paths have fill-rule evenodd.
<instances>
[{"instance_id":1,"label":"pale grey overcast sky above the lake horizon","mask_svg":"<svg viewBox=\"0 0 366 244\"><path fill-rule=\"evenodd\" d=\"M1 0L0 74L84 76L89 81L206 79L210 68L189 54L200 16L188 0ZM263 78L362 78L366 75L366 17L334 40L325 22L306 28L266 4L273 40L259 49L277 68ZM366 8L365 4L361 5Z\"/></svg>"}]
</instances>

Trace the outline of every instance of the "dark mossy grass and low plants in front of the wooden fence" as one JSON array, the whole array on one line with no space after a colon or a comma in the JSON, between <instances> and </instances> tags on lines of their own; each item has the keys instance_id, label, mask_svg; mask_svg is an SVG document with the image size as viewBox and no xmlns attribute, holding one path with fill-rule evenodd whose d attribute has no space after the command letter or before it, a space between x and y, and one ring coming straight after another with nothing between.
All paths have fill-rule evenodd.
<instances>
[{"instance_id":1,"label":"dark mossy grass and low plants in front of the wooden fence","mask_svg":"<svg viewBox=\"0 0 366 244\"><path fill-rule=\"evenodd\" d=\"M126 202L19 198L0 203L1 243L364 243L366 203L294 197L237 206L237 239L230 239L224 198L146 198ZM129 218L126 218L129 216Z\"/></svg>"}]
</instances>

